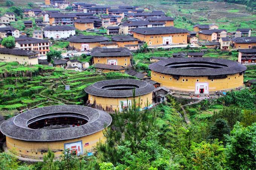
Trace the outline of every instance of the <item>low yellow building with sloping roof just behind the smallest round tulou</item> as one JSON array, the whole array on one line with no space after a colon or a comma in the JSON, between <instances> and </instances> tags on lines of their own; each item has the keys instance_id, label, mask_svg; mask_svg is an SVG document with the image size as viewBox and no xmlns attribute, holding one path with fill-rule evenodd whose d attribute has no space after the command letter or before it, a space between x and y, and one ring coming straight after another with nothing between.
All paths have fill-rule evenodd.
<instances>
[{"instance_id":1,"label":"low yellow building with sloping roof just behind the smallest round tulou","mask_svg":"<svg viewBox=\"0 0 256 170\"><path fill-rule=\"evenodd\" d=\"M98 71L101 71L103 73L125 72L125 69L126 69L124 66L101 64L101 63L94 64L94 68L96 68Z\"/></svg>"}]
</instances>

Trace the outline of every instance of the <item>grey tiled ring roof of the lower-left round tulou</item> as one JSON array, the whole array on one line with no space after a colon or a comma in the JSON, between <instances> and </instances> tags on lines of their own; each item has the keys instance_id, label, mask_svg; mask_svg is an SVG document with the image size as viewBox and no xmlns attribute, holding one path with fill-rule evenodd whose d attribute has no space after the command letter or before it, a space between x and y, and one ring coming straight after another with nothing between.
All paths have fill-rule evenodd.
<instances>
[{"instance_id":1,"label":"grey tiled ring roof of the lower-left round tulou","mask_svg":"<svg viewBox=\"0 0 256 170\"><path fill-rule=\"evenodd\" d=\"M87 116L88 122L85 125L66 129L30 129L27 121L33 118L51 113L76 113ZM112 122L111 116L105 111L96 110L80 105L55 105L35 108L12 117L0 126L1 132L18 140L25 141L60 141L75 139L102 131L105 124Z\"/></svg>"}]
</instances>

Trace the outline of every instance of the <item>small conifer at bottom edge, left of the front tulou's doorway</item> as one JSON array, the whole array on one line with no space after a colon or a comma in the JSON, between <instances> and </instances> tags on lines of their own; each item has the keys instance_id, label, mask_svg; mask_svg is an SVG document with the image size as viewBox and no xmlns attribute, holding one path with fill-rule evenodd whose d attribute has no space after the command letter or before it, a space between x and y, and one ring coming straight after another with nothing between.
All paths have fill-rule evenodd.
<instances>
[{"instance_id":1,"label":"small conifer at bottom edge, left of the front tulou's doorway","mask_svg":"<svg viewBox=\"0 0 256 170\"><path fill-rule=\"evenodd\" d=\"M47 154L43 156L42 170L58 170L59 168L54 158L55 154L51 150L48 150Z\"/></svg>"}]
</instances>

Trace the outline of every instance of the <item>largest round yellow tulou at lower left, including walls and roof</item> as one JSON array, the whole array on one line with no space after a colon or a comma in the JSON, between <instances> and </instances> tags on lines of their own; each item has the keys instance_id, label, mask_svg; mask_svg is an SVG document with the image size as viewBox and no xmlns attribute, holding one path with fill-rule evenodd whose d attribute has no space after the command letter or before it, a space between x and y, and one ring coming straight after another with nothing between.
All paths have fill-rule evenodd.
<instances>
[{"instance_id":1,"label":"largest round yellow tulou at lower left, including walls and roof","mask_svg":"<svg viewBox=\"0 0 256 170\"><path fill-rule=\"evenodd\" d=\"M18 155L42 158L48 149L59 156L64 149L79 155L105 140L102 130L112 122L105 111L80 105L35 108L2 123L6 146Z\"/></svg>"}]
</instances>

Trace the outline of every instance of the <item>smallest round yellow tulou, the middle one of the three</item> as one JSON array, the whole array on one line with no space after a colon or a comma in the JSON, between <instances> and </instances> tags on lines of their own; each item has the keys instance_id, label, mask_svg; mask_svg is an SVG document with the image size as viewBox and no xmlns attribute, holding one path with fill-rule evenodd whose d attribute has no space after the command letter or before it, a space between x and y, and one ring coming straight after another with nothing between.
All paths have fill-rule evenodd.
<instances>
[{"instance_id":1,"label":"smallest round yellow tulou, the middle one of the three","mask_svg":"<svg viewBox=\"0 0 256 170\"><path fill-rule=\"evenodd\" d=\"M152 102L152 92L155 87L146 81L137 79L115 79L98 81L85 88L90 104L96 108L113 112L122 109L121 102L125 105L132 101L135 92L136 101L143 105ZM138 102L139 103L139 102ZM127 106L127 105L126 105Z\"/></svg>"}]
</instances>

